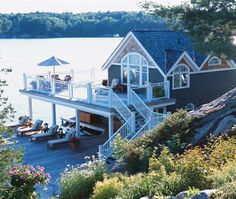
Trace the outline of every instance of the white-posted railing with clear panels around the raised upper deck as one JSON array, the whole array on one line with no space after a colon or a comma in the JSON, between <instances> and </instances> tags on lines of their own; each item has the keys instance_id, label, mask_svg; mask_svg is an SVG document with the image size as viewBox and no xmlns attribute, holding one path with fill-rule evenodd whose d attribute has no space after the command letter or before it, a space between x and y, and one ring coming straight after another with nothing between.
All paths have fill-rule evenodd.
<instances>
[{"instance_id":1,"label":"white-posted railing with clear panels around the raised upper deck","mask_svg":"<svg viewBox=\"0 0 236 199\"><path fill-rule=\"evenodd\" d=\"M144 86L130 86L123 91L113 91L110 87L92 84L91 82L74 82L57 80L50 76L23 75L22 91L30 91L46 96L54 96L71 101L84 102L111 108L112 93L116 93L125 104L129 104L129 90L132 89L143 102L155 102L169 99L169 82Z\"/></svg>"}]
</instances>

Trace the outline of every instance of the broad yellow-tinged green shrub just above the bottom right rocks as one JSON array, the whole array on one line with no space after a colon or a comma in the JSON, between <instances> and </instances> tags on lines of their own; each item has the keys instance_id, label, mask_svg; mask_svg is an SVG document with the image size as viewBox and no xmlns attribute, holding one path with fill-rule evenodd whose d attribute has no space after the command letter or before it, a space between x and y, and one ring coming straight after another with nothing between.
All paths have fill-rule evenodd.
<instances>
[{"instance_id":1,"label":"broad yellow-tinged green shrub just above the bottom right rocks","mask_svg":"<svg viewBox=\"0 0 236 199\"><path fill-rule=\"evenodd\" d=\"M159 157L150 158L149 164L159 194L175 195L189 187L202 189L208 186L208 167L198 148L175 157L165 147Z\"/></svg>"}]
</instances>

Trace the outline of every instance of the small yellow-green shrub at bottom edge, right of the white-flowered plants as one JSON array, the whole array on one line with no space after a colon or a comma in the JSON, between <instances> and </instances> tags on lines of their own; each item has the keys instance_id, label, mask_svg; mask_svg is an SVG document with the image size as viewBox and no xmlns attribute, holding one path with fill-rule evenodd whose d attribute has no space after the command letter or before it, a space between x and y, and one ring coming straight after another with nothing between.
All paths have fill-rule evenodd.
<instances>
[{"instance_id":1,"label":"small yellow-green shrub at bottom edge, right of the white-flowered plants","mask_svg":"<svg viewBox=\"0 0 236 199\"><path fill-rule=\"evenodd\" d=\"M123 184L117 178L104 179L102 182L97 182L93 192L93 199L115 199L122 190Z\"/></svg>"}]
</instances>

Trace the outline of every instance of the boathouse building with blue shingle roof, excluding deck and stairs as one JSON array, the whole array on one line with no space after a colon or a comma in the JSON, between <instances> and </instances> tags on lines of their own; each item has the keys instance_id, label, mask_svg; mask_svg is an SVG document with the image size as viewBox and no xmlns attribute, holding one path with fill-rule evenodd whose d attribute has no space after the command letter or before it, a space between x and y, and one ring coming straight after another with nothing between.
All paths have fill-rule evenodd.
<instances>
[{"instance_id":1,"label":"boathouse building with blue shingle roof, excluding deck and stairs","mask_svg":"<svg viewBox=\"0 0 236 199\"><path fill-rule=\"evenodd\" d=\"M108 70L110 84L119 79L120 84L140 90L149 84L168 85L166 100L155 100L154 96L146 100L150 108L161 113L194 109L236 86L235 61L202 55L188 37L173 31L129 32L102 69ZM158 94L155 87L151 91ZM153 95L150 90L146 92Z\"/></svg>"}]
</instances>

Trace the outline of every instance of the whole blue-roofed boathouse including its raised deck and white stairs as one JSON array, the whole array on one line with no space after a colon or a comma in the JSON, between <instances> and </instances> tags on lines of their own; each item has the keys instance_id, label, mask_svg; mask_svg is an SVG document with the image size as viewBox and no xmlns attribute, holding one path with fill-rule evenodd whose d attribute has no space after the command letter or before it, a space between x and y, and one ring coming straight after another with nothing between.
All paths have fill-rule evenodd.
<instances>
[{"instance_id":1,"label":"whole blue-roofed boathouse including its raised deck and white stairs","mask_svg":"<svg viewBox=\"0 0 236 199\"><path fill-rule=\"evenodd\" d=\"M188 37L172 31L137 30L127 34L102 66L107 86L23 76L20 93L75 109L77 136L82 123L99 121L108 130L99 154L108 157L117 135L135 139L159 125L167 111L192 110L236 86L236 63L196 52ZM74 77L75 74L71 74ZM99 138L98 138L99 139Z\"/></svg>"}]
</instances>

